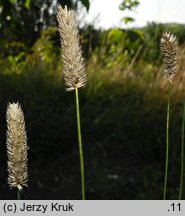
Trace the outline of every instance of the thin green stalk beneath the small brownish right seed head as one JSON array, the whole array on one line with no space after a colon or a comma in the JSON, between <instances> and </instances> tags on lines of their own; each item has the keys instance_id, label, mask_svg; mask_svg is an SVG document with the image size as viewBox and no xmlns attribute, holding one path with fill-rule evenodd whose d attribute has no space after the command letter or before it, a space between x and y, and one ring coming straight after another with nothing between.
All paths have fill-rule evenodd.
<instances>
[{"instance_id":1,"label":"thin green stalk beneath the small brownish right seed head","mask_svg":"<svg viewBox=\"0 0 185 216\"><path fill-rule=\"evenodd\" d=\"M168 158L169 158L169 120L170 120L170 82L167 85L168 102L167 102L167 114L166 114L166 165L165 165L165 178L164 178L164 192L163 200L166 199L166 187L168 177Z\"/></svg>"}]
</instances>

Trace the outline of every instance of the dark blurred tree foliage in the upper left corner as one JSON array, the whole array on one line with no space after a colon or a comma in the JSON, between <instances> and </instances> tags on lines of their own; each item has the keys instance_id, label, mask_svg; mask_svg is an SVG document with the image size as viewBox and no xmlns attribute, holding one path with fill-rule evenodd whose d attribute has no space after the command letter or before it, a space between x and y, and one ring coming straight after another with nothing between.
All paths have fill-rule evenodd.
<instances>
[{"instance_id":1,"label":"dark blurred tree foliage in the upper left corner","mask_svg":"<svg viewBox=\"0 0 185 216\"><path fill-rule=\"evenodd\" d=\"M78 2L89 9L89 0L58 0L61 5L77 8ZM19 41L30 47L43 29L56 24L57 0L0 0L0 39Z\"/></svg>"}]
</instances>

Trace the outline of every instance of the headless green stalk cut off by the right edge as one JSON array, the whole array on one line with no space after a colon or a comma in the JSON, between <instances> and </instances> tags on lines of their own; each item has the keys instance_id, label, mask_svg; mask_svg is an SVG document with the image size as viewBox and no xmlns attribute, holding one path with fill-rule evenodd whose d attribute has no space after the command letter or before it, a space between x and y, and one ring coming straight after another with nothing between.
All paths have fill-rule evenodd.
<instances>
[{"instance_id":1,"label":"headless green stalk cut off by the right edge","mask_svg":"<svg viewBox=\"0 0 185 216\"><path fill-rule=\"evenodd\" d=\"M185 101L183 108L183 119L182 119L182 137L181 137L181 178L180 178L180 189L179 189L179 200L182 199L182 188L184 179L184 123L185 123Z\"/></svg>"}]
</instances>

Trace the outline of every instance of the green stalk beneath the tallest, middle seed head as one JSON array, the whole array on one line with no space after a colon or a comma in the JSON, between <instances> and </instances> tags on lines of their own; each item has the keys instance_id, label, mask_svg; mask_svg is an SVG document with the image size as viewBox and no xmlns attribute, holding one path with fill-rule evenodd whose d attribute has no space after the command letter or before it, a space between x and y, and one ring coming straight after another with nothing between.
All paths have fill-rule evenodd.
<instances>
[{"instance_id":1,"label":"green stalk beneath the tallest, middle seed head","mask_svg":"<svg viewBox=\"0 0 185 216\"><path fill-rule=\"evenodd\" d=\"M85 200L85 175L84 175L84 160L83 160L78 88L75 88L75 100L76 100L76 118L77 118L77 130L78 130L79 157L80 157L82 200Z\"/></svg>"}]
</instances>

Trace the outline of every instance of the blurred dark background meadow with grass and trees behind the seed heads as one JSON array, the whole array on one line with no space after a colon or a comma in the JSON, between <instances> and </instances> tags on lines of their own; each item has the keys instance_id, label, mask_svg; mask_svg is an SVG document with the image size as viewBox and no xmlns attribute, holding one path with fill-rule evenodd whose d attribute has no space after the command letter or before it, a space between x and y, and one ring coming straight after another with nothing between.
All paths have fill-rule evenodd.
<instances>
[{"instance_id":1,"label":"blurred dark background meadow with grass and trees behind the seed heads","mask_svg":"<svg viewBox=\"0 0 185 216\"><path fill-rule=\"evenodd\" d=\"M89 6L60 2L78 13ZM5 117L13 101L22 104L29 145L24 199L81 198L74 97L64 86L55 6L50 0L0 1L0 199L16 198L6 171ZM167 95L159 41L166 30L179 42L167 185L167 199L178 199L185 25L154 22L80 28L88 77L79 93L87 199L162 199Z\"/></svg>"}]
</instances>

